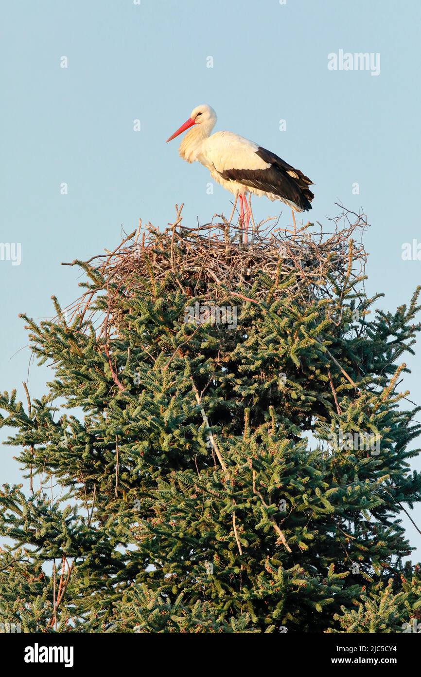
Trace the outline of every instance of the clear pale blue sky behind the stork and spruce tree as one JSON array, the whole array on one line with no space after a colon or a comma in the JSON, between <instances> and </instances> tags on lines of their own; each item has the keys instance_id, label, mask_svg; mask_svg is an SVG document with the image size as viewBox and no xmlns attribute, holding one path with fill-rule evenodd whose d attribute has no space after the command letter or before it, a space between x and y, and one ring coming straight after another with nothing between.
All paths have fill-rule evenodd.
<instances>
[{"instance_id":1,"label":"clear pale blue sky behind the stork and spruce tree","mask_svg":"<svg viewBox=\"0 0 421 677\"><path fill-rule=\"evenodd\" d=\"M363 206L368 291L385 292L387 309L407 302L421 281L421 261L401 259L404 242L421 241L420 24L419 0L2 3L0 240L22 244L22 263L0 261L0 390L17 385L24 399L30 354L12 358L27 344L18 313L51 315L51 294L66 305L78 293L76 270L61 261L113 248L139 217L163 227L175 202L190 223L230 213L230 195L220 186L208 195L207 171L178 157L179 139L165 144L201 103L216 109L216 129L312 177L312 219L336 215L338 200ZM380 74L328 70L339 49L380 53ZM280 205L255 198L253 209L264 218ZM289 211L281 219L289 223ZM407 362L419 402L420 359ZM32 366L32 396L46 378ZM19 481L13 450L1 454L0 483ZM420 506L414 517L421 523ZM420 546L411 525L408 533Z\"/></svg>"}]
</instances>

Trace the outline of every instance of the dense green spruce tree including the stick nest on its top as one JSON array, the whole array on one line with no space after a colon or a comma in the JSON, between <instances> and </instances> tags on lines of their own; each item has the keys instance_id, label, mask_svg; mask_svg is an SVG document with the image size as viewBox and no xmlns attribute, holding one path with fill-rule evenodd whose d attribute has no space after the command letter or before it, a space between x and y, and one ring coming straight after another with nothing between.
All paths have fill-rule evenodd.
<instances>
[{"instance_id":1,"label":"dense green spruce tree including the stick nest on its top","mask_svg":"<svg viewBox=\"0 0 421 677\"><path fill-rule=\"evenodd\" d=\"M243 244L223 217L189 228L178 211L141 244L138 232L74 262L86 278L67 312L53 297L53 319L23 315L53 380L41 399L26 385L24 403L0 397L30 484L1 489L0 621L253 633L411 621L420 588L402 582L416 573L399 515L421 500L420 408L398 387L420 289L376 309L353 240L364 217L344 219Z\"/></svg>"}]
</instances>

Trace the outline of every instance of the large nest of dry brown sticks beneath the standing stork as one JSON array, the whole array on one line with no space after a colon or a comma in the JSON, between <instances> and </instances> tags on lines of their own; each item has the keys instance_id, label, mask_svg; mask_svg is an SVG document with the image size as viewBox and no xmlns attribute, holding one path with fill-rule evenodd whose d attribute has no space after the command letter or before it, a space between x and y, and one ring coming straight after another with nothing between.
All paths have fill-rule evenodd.
<instances>
[{"instance_id":1,"label":"large nest of dry brown sticks beneath the standing stork","mask_svg":"<svg viewBox=\"0 0 421 677\"><path fill-rule=\"evenodd\" d=\"M216 302L230 295L247 299L252 287L253 298L259 299L268 290L265 278L279 282L290 278L290 292L307 301L328 298L335 284L342 286L345 278L364 275L366 252L361 240L368 225L364 213L343 209L338 217L328 219L328 227L307 223L297 230L281 229L278 219L275 223L266 219L252 227L247 243L241 242L241 224L230 223L223 215L214 219L218 220L187 227L182 224L182 205L176 205L176 219L165 230L139 221L137 231L126 236L114 252L64 264L97 271L104 281L68 311L83 316L93 311L91 304L102 288L109 295L112 312L117 297L130 295L140 280L157 283L168 276L187 297L209 299L212 294Z\"/></svg>"}]
</instances>

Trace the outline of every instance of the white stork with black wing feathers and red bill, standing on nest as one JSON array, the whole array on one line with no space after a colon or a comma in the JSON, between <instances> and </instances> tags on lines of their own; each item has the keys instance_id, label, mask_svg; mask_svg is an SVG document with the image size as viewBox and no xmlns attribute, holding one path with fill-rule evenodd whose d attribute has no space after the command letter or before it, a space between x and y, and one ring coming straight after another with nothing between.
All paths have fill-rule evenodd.
<instances>
[{"instance_id":1,"label":"white stork with black wing feathers and red bill, standing on nest","mask_svg":"<svg viewBox=\"0 0 421 677\"><path fill-rule=\"evenodd\" d=\"M294 169L277 155L230 131L210 135L216 124L216 112L211 106L196 106L189 119L170 136L171 141L193 127L182 139L179 153L187 162L201 162L212 178L240 200L241 225L247 233L251 208L247 194L266 195L281 200L294 211L312 209L312 181L299 169ZM295 224L295 218L294 218ZM247 235L245 235L247 240Z\"/></svg>"}]
</instances>

